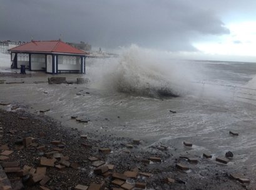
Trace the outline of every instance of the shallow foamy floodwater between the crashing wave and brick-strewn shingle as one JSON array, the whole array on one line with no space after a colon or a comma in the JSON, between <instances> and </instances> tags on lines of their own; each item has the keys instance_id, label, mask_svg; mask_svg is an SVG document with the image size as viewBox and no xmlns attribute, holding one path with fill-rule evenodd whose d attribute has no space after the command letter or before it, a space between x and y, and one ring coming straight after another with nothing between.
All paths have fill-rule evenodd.
<instances>
[{"instance_id":1,"label":"shallow foamy floodwater between the crashing wave and brick-strewn shingle","mask_svg":"<svg viewBox=\"0 0 256 190\"><path fill-rule=\"evenodd\" d=\"M251 176L251 184L255 183L252 176L256 171L256 109L253 104L240 102L233 96L210 97L204 95L203 90L200 95L159 99L111 93L91 88L89 84L49 85L46 82L49 76L44 74L19 76L0 77L6 82L24 81L0 85L1 102L11 103L1 108L11 110L12 105L19 105L28 112L51 116L63 126L97 135L140 139L145 141L145 147L163 143L175 150L174 156L189 153L200 157L207 152L213 154L215 163L216 157L232 151L234 157L225 168ZM81 77L63 76L69 80ZM48 109L46 113L39 113ZM90 121L78 123L71 120L74 115ZM230 135L230 130L239 135ZM192 142L193 148L185 148L185 140Z\"/></svg>"}]
</instances>

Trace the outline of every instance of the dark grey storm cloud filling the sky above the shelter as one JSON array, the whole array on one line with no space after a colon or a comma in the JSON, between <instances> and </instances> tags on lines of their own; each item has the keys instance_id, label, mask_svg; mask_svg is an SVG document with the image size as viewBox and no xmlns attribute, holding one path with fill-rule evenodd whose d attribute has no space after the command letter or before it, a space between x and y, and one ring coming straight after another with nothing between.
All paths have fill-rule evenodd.
<instances>
[{"instance_id":1,"label":"dark grey storm cloud filling the sky above the shelter","mask_svg":"<svg viewBox=\"0 0 256 190\"><path fill-rule=\"evenodd\" d=\"M167 50L196 50L201 35L229 31L197 1L0 0L0 40L84 40L115 48L135 43Z\"/></svg>"}]
</instances>

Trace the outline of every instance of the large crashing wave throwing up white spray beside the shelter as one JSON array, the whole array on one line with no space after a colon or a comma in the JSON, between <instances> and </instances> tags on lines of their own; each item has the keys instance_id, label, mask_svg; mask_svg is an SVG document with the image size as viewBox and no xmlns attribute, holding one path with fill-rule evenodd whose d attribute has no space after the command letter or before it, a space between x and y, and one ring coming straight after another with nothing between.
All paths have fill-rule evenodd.
<instances>
[{"instance_id":1,"label":"large crashing wave throwing up white spray beside the shelter","mask_svg":"<svg viewBox=\"0 0 256 190\"><path fill-rule=\"evenodd\" d=\"M153 50L131 45L117 58L88 60L91 85L146 97L178 97L190 88L185 64ZM191 70L190 70L191 73Z\"/></svg>"}]
</instances>

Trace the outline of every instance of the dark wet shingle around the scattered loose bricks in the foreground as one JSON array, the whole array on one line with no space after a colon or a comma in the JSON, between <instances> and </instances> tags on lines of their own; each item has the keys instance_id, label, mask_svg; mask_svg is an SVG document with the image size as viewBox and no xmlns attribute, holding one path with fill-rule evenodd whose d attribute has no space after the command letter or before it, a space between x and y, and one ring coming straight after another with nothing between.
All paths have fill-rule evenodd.
<instances>
[{"instance_id":1,"label":"dark wet shingle around the scattered loose bricks in the foreground","mask_svg":"<svg viewBox=\"0 0 256 190\"><path fill-rule=\"evenodd\" d=\"M59 153L68 156L67 161L76 167L58 170L55 167L59 165L58 158L56 158L54 167L47 166L45 175L50 180L44 186L52 190L72 189L78 184L90 186L91 183L103 184L103 182L107 189L118 188L111 183L114 179L111 174L116 172L123 174L126 171L135 171L136 173L136 179L127 179L128 184L133 186L136 182L145 183L147 189L241 189L244 186L228 177L234 171L231 171L225 164L215 163L200 155L193 155L197 156L198 164L188 163L186 159L173 156L175 148L172 146L166 150L159 150L159 146L145 147L143 142L140 145L134 145L133 140L129 138L96 135L95 133L85 134L72 128L64 128L49 116L35 115L24 110L8 112L0 109L0 118L1 127L3 127L1 145L8 144L9 149L14 151L10 154L9 159L4 161L18 161L21 169L25 165L34 169L38 168L40 159L54 151L54 148L58 148L58 146L52 145L51 141L61 141L61 145L64 145ZM45 135L41 136L40 134ZM81 138L83 134L88 135L88 138ZM15 144L18 140L28 136L36 138L37 145L25 148L23 145ZM81 146L82 143L92 147L88 149L87 146L87 148ZM131 144L133 148L131 148ZM46 146L46 150L38 151L38 146ZM111 153L100 153L99 148L110 148ZM93 162L88 159L90 157L96 157L106 164L113 164L115 168L108 169L106 178L104 174L94 174L93 171L96 167L91 165ZM150 161L150 164L145 164L147 161L143 160L148 160L150 157L160 158L161 163ZM49 159L51 158L53 158L53 154L49 155ZM175 167L177 163L189 166L190 170L185 172L177 169ZM140 173L150 173L151 176L148 178L145 174ZM32 177L33 174L30 178ZM20 180L16 173L8 173L8 178L13 183ZM166 182L167 178L174 179L174 181ZM24 186L25 189L39 189L38 183L33 186L24 183ZM246 188L253 189L253 184L251 183Z\"/></svg>"}]
</instances>

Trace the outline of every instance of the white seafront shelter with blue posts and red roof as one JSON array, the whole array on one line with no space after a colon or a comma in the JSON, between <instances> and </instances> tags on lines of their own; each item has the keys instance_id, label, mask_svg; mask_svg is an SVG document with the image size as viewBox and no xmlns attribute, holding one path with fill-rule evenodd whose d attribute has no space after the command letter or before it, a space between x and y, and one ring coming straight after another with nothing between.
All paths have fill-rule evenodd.
<instances>
[{"instance_id":1,"label":"white seafront shelter with blue posts and red roof","mask_svg":"<svg viewBox=\"0 0 256 190\"><path fill-rule=\"evenodd\" d=\"M25 65L29 70L85 73L86 53L61 40L34 41L9 49L13 69Z\"/></svg>"}]
</instances>

